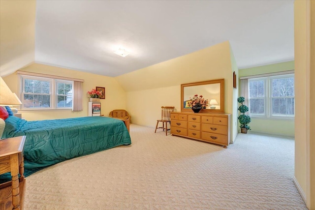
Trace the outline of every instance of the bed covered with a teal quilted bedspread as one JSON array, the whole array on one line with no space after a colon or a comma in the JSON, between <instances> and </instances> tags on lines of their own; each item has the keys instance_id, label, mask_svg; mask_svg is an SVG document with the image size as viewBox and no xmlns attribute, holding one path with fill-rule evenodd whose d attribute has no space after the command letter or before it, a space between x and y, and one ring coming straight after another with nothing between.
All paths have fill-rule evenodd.
<instances>
[{"instance_id":1,"label":"bed covered with a teal quilted bedspread","mask_svg":"<svg viewBox=\"0 0 315 210\"><path fill-rule=\"evenodd\" d=\"M124 122L107 117L27 121L9 116L2 138L15 136L26 136L25 176L67 159L131 144ZM8 177L1 175L0 182Z\"/></svg>"}]
</instances>

